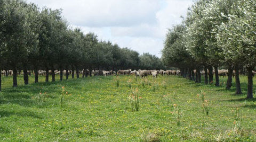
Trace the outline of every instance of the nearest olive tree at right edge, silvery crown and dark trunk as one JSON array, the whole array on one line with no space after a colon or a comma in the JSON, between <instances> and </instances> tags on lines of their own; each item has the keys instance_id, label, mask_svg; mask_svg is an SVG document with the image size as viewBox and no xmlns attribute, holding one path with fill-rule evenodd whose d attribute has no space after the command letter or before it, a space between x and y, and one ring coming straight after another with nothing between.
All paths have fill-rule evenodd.
<instances>
[{"instance_id":1,"label":"nearest olive tree at right edge, silvery crown and dark trunk","mask_svg":"<svg viewBox=\"0 0 256 142\"><path fill-rule=\"evenodd\" d=\"M225 60L246 65L248 71L247 98L253 97L252 70L256 59L256 2L236 1L225 15L227 23L218 26L217 41Z\"/></svg>"}]
</instances>

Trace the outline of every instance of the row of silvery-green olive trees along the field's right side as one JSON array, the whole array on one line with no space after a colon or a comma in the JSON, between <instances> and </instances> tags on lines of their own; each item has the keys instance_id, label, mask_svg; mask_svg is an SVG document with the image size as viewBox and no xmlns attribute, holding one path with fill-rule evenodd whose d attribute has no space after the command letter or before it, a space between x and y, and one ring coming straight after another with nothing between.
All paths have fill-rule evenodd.
<instances>
[{"instance_id":1,"label":"row of silvery-green olive trees along the field's right side","mask_svg":"<svg viewBox=\"0 0 256 142\"><path fill-rule=\"evenodd\" d=\"M252 71L256 66L256 1L198 0L188 10L182 24L169 30L164 43L163 61L183 70L191 79L196 69L205 71L205 84L219 86L218 67L228 68L227 89L235 70L236 93L241 94L239 69L246 68L247 98L253 97ZM208 73L207 73L208 72ZM209 78L209 81L208 81Z\"/></svg>"}]
</instances>

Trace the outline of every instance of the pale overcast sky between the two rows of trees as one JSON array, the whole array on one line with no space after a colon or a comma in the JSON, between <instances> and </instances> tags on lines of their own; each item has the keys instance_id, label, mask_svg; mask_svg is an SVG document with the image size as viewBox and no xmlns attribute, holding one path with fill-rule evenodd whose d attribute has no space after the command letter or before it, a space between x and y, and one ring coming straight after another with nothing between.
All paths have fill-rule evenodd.
<instances>
[{"instance_id":1,"label":"pale overcast sky between the two rows of trees","mask_svg":"<svg viewBox=\"0 0 256 142\"><path fill-rule=\"evenodd\" d=\"M181 23L194 0L27 0L39 7L61 8L62 15L84 33L140 54L161 57L167 29Z\"/></svg>"}]
</instances>

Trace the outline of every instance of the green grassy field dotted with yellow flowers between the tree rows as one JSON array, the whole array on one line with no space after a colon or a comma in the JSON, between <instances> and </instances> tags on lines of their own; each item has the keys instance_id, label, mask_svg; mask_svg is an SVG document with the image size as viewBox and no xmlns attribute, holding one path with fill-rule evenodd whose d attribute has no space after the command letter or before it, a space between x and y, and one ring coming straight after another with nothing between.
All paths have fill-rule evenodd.
<instances>
[{"instance_id":1,"label":"green grassy field dotted with yellow flowers between the tree rows","mask_svg":"<svg viewBox=\"0 0 256 142\"><path fill-rule=\"evenodd\" d=\"M215 87L178 76L54 83L40 77L25 86L19 76L12 88L12 78L2 77L0 140L256 141L256 100L244 99L247 78L241 76L242 95L225 90L226 79Z\"/></svg>"}]
</instances>

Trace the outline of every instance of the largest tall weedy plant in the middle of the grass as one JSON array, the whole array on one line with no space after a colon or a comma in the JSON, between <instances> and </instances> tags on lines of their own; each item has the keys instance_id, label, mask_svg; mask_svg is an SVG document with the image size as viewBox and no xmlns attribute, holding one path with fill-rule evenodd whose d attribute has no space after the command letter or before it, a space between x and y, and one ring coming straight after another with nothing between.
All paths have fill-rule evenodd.
<instances>
[{"instance_id":1,"label":"largest tall weedy plant in the middle of the grass","mask_svg":"<svg viewBox=\"0 0 256 142\"><path fill-rule=\"evenodd\" d=\"M132 94L128 96L128 99L131 103L131 108L133 111L139 111L139 102L140 102L140 99L141 99L141 96L138 96L138 88L136 88L135 90L133 90L131 88L131 92Z\"/></svg>"}]
</instances>

